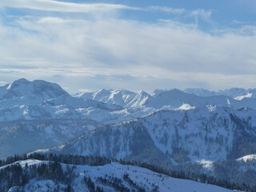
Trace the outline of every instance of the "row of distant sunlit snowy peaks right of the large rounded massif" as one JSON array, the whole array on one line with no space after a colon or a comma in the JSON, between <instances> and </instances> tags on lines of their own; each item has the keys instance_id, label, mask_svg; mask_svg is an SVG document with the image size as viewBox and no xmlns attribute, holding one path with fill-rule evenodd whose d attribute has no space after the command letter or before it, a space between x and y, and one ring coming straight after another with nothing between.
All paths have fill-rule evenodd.
<instances>
[{"instance_id":1,"label":"row of distant sunlit snowy peaks right of the large rounded massif","mask_svg":"<svg viewBox=\"0 0 256 192\"><path fill-rule=\"evenodd\" d=\"M237 92L235 92L235 90L237 90ZM199 94L195 94L195 92ZM203 94L200 94L201 92ZM233 93L233 96L241 94L242 96L233 98L225 95L224 92L231 96L232 94L228 94L229 92L235 92L236 94ZM218 92L199 89L187 89L185 91L177 89L155 90L151 95L147 94L145 91L139 91L135 94L134 92L129 92L127 90L99 90L94 93L90 93L90 95L93 95L92 97L90 95L88 96L88 93L85 93L79 94L78 98L87 97L94 101L115 104L123 106L124 108L145 106L154 108L155 110L162 108L176 109L184 103L190 104L190 106L226 106L236 110L243 107L256 109L256 98L252 97L253 94L243 94L242 90L238 88Z\"/></svg>"}]
</instances>

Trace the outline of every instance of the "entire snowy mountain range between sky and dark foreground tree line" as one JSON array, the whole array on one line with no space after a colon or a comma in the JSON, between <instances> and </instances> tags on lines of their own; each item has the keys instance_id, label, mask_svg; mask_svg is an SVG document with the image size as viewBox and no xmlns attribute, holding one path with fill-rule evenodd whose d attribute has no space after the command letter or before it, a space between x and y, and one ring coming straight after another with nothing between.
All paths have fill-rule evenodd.
<instances>
[{"instance_id":1,"label":"entire snowy mountain range between sky and dark foreground tree line","mask_svg":"<svg viewBox=\"0 0 256 192\"><path fill-rule=\"evenodd\" d=\"M255 93L103 89L71 96L55 83L19 79L0 87L0 159L33 151L104 156L246 182L256 173L249 166ZM246 157L253 160L239 162ZM230 173L228 162L242 168Z\"/></svg>"}]
</instances>

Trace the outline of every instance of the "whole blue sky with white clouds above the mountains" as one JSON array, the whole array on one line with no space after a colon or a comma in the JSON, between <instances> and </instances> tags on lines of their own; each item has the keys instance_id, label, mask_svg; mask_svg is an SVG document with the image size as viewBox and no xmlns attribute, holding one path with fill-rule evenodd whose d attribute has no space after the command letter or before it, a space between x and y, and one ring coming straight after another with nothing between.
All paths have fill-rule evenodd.
<instances>
[{"instance_id":1,"label":"whole blue sky with white clouds above the mountains","mask_svg":"<svg viewBox=\"0 0 256 192\"><path fill-rule=\"evenodd\" d=\"M1 0L0 85L255 88L254 0Z\"/></svg>"}]
</instances>

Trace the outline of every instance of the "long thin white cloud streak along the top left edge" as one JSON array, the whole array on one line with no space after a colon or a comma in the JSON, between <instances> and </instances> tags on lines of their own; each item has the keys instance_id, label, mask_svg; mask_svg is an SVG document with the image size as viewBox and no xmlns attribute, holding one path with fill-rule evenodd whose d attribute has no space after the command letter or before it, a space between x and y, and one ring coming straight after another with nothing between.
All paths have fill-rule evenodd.
<instances>
[{"instance_id":1,"label":"long thin white cloud streak along the top left edge","mask_svg":"<svg viewBox=\"0 0 256 192\"><path fill-rule=\"evenodd\" d=\"M53 0L1 0L0 7L25 8L32 10L60 11L74 13L108 12L114 10L137 10L130 6L107 3L73 3Z\"/></svg>"}]
</instances>

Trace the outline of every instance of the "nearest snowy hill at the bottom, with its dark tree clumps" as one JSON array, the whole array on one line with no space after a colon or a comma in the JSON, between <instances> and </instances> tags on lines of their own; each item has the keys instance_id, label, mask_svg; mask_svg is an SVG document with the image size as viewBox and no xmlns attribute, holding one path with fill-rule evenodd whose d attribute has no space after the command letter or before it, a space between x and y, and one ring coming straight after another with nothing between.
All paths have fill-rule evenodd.
<instances>
[{"instance_id":1,"label":"nearest snowy hill at the bottom, with its dark tree clumps","mask_svg":"<svg viewBox=\"0 0 256 192\"><path fill-rule=\"evenodd\" d=\"M6 174L14 172L15 177L8 178L12 182L7 183ZM126 166L117 162L104 166L79 166L29 159L0 167L0 175L0 189L3 192L233 191L206 183L171 178L142 167ZM15 183L20 184L15 186Z\"/></svg>"}]
</instances>

